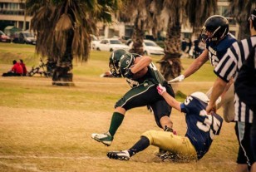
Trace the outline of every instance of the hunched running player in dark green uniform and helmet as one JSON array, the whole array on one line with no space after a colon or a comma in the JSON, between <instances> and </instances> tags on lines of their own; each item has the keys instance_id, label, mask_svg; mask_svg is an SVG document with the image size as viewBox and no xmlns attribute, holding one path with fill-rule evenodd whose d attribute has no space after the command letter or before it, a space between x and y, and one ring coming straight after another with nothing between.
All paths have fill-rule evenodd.
<instances>
[{"instance_id":1,"label":"hunched running player in dark green uniform and helmet","mask_svg":"<svg viewBox=\"0 0 256 172\"><path fill-rule=\"evenodd\" d=\"M172 131L171 106L158 94L156 86L158 84L166 86L171 96L175 96L175 93L152 63L151 58L128 53L125 50L116 50L111 54L110 68L112 75L126 77L131 89L116 102L109 130L104 134L91 134L91 137L104 145L111 145L126 111L140 106L150 106L156 124L163 130Z\"/></svg>"}]
</instances>

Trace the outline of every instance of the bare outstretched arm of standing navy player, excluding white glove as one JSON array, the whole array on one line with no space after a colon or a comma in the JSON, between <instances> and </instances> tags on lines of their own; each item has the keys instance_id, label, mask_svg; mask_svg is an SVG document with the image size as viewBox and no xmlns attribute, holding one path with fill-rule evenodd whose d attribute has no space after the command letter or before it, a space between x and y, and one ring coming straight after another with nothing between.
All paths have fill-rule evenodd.
<instances>
[{"instance_id":1,"label":"bare outstretched arm of standing navy player, excluding white glove","mask_svg":"<svg viewBox=\"0 0 256 172\"><path fill-rule=\"evenodd\" d=\"M202 52L202 54L200 54L200 56L197 57L192 62L192 64L189 66L189 68L185 70L185 72L183 74L185 76L185 78L189 77L190 75L192 75L195 71L198 71L199 68L201 66L203 66L206 61L208 61L208 59L209 59L209 57L208 57L208 50L204 49L204 52Z\"/></svg>"}]
</instances>

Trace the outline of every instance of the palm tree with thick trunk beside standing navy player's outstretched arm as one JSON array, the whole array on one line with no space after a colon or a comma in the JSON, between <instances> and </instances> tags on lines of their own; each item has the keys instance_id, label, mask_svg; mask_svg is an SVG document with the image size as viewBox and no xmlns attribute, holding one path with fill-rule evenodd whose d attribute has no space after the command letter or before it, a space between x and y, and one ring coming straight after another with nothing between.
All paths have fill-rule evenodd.
<instances>
[{"instance_id":1,"label":"palm tree with thick trunk beside standing navy player's outstretched arm","mask_svg":"<svg viewBox=\"0 0 256 172\"><path fill-rule=\"evenodd\" d=\"M165 0L160 9L160 20L163 24L158 26L167 28L165 39L165 56L158 61L160 71L166 80L180 75L182 66L180 62L180 34L181 22L189 23L194 30L199 30L204 21L217 8L217 0ZM167 23L167 24L165 24Z\"/></svg>"}]
</instances>

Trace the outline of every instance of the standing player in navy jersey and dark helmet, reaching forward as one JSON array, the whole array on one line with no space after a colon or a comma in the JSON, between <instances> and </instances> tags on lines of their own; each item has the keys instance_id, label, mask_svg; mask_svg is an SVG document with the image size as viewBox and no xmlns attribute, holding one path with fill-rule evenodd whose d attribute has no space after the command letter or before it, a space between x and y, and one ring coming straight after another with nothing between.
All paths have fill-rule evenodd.
<instances>
[{"instance_id":1,"label":"standing player in navy jersey and dark helmet, reaching forward","mask_svg":"<svg viewBox=\"0 0 256 172\"><path fill-rule=\"evenodd\" d=\"M224 57L227 49L236 42L234 36L229 33L229 21L219 15L209 17L204 22L204 27L201 32L202 42L206 43L204 52L193 61L188 69L185 70L183 75L176 77L169 81L183 81L185 78L192 75L195 71L198 71L206 61L210 61L212 66L217 66L219 61ZM206 93L210 97L211 89ZM230 122L234 120L234 85L230 81L229 86L226 87L226 93L222 96L218 108L223 106L224 120Z\"/></svg>"}]
</instances>

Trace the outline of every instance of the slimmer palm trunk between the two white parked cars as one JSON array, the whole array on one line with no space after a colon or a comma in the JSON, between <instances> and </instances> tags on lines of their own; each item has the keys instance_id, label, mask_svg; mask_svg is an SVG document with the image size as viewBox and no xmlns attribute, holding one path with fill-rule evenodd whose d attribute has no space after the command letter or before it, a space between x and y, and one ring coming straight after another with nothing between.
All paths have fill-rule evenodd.
<instances>
[{"instance_id":1,"label":"slimmer palm trunk between the two white parked cars","mask_svg":"<svg viewBox=\"0 0 256 172\"><path fill-rule=\"evenodd\" d=\"M144 21L140 19L140 12L135 19L134 32L132 35L133 46L130 49L131 53L144 55L143 38L144 38Z\"/></svg>"}]
</instances>

